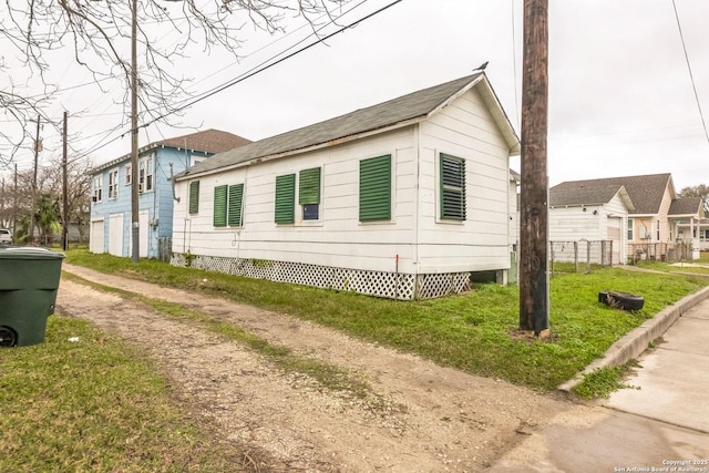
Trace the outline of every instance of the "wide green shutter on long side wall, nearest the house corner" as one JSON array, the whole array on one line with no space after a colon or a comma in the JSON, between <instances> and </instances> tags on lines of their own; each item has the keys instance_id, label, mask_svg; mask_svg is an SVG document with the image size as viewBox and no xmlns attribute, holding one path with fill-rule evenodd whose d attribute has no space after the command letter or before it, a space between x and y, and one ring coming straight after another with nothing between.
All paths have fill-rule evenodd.
<instances>
[{"instance_id":1,"label":"wide green shutter on long side wall, nearest the house corner","mask_svg":"<svg viewBox=\"0 0 709 473\"><path fill-rule=\"evenodd\" d=\"M391 155L359 162L359 220L391 219Z\"/></svg>"}]
</instances>

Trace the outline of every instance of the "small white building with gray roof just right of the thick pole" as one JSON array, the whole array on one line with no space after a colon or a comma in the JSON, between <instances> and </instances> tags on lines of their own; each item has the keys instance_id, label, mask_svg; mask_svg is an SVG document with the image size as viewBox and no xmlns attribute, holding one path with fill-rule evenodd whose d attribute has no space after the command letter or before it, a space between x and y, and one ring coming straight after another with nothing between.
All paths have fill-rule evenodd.
<instances>
[{"instance_id":1,"label":"small white building with gray roof just right of the thick pole","mask_svg":"<svg viewBox=\"0 0 709 473\"><path fill-rule=\"evenodd\" d=\"M558 243L590 241L594 260L609 260L617 265L625 263L627 257L628 214L635 212L633 200L626 188L620 184L605 185L605 183L589 182L574 188L549 189L549 240ZM607 247L604 243L609 241ZM566 248L562 245L562 248ZM573 260L573 246L566 254L557 249L556 258ZM600 254L609 258L600 257Z\"/></svg>"}]
</instances>

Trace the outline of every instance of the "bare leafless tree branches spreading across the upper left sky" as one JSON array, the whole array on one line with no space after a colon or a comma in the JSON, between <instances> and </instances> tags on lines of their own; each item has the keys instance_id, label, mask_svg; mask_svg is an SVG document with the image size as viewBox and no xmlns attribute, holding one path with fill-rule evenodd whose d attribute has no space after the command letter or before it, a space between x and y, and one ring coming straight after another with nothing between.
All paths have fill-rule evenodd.
<instances>
[{"instance_id":1,"label":"bare leafless tree branches spreading across the upper left sky","mask_svg":"<svg viewBox=\"0 0 709 473\"><path fill-rule=\"evenodd\" d=\"M188 47L201 44L204 53L219 48L238 58L247 25L268 32L284 29L286 20L300 17L314 31L322 19L343 0L215 0L197 4L141 0L137 4L140 62L138 85L142 123L168 121L188 99L188 78L179 72L181 60ZM4 10L4 11L2 11ZM0 86L0 107L24 131L41 105L56 91L47 80L53 52L70 48L78 64L89 71L95 83L107 93L115 81L122 82L124 95L115 101L124 106L129 121L131 80L130 39L132 2L116 0L4 0L0 4L0 40L9 44L0 56L0 83L12 84L17 68L6 59L20 58L27 81L42 84L39 95L22 94L14 86ZM58 124L55 124L58 125ZM24 132L0 136L14 148L25 142Z\"/></svg>"}]
</instances>

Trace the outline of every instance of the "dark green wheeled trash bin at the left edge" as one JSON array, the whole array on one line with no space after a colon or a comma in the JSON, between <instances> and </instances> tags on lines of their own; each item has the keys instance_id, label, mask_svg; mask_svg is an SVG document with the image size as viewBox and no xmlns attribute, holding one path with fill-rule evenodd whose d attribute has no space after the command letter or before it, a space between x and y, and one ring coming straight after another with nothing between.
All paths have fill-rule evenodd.
<instances>
[{"instance_id":1,"label":"dark green wheeled trash bin at the left edge","mask_svg":"<svg viewBox=\"0 0 709 473\"><path fill-rule=\"evenodd\" d=\"M23 246L0 247L0 346L44 341L54 313L63 253Z\"/></svg>"}]
</instances>

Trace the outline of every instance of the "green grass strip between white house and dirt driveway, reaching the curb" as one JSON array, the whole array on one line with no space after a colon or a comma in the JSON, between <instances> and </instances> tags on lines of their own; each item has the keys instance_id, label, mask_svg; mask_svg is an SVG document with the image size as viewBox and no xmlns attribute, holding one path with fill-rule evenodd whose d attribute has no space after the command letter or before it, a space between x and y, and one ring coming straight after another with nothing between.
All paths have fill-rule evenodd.
<instances>
[{"instance_id":1,"label":"green grass strip between white house and dirt driveway, reaching the curb","mask_svg":"<svg viewBox=\"0 0 709 473\"><path fill-rule=\"evenodd\" d=\"M516 333L520 302L515 286L479 285L465 295L404 302L154 260L132 264L84 250L70 251L68 261L287 313L472 374L543 391L573 378L629 330L709 282L616 268L555 276L549 284L553 337L544 341ZM597 295L605 289L644 296L645 307L629 313L604 306Z\"/></svg>"}]
</instances>

